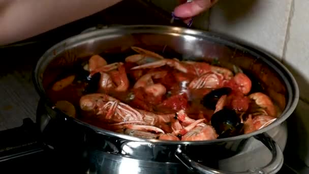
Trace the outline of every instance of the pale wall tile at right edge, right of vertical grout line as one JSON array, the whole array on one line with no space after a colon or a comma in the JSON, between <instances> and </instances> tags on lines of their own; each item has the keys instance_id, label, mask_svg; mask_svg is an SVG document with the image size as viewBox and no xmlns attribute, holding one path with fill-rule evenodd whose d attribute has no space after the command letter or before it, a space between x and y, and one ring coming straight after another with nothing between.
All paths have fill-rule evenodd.
<instances>
[{"instance_id":1,"label":"pale wall tile at right edge, right of vertical grout line","mask_svg":"<svg viewBox=\"0 0 309 174\"><path fill-rule=\"evenodd\" d=\"M309 101L309 1L294 1L284 63L291 67L300 97Z\"/></svg>"}]
</instances>

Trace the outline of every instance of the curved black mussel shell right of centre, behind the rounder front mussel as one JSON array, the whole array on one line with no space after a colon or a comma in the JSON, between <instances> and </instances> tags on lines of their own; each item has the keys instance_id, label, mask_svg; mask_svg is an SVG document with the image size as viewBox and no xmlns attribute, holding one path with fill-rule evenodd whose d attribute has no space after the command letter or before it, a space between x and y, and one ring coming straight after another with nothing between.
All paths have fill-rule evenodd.
<instances>
[{"instance_id":1,"label":"curved black mussel shell right of centre, behind the rounder front mussel","mask_svg":"<svg viewBox=\"0 0 309 174\"><path fill-rule=\"evenodd\" d=\"M224 87L224 88L220 88L220 89L216 89L211 91L210 93L206 94L203 97L203 100L201 101L201 104L203 104L204 107L214 110L215 109L215 105L217 104L218 100L224 96L224 95L228 95L232 92L231 88L228 87Z\"/></svg>"}]
</instances>

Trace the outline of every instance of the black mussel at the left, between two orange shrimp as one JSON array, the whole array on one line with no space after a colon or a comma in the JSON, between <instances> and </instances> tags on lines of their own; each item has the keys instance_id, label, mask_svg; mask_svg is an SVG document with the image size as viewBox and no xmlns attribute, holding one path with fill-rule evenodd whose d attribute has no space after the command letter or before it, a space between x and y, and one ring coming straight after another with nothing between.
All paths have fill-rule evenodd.
<instances>
[{"instance_id":1,"label":"black mussel at the left, between two orange shrimp","mask_svg":"<svg viewBox=\"0 0 309 174\"><path fill-rule=\"evenodd\" d=\"M84 93L89 94L89 93L95 93L98 91L100 78L101 78L100 73L96 73L90 76L89 71L81 69L78 71L75 80L85 82L86 86L85 86Z\"/></svg>"}]
</instances>

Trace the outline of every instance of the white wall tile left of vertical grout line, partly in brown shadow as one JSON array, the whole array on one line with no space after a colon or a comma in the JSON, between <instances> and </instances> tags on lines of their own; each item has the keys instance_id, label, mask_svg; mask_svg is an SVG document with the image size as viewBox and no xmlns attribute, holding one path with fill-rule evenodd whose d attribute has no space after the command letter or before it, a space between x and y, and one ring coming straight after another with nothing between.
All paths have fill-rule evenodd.
<instances>
[{"instance_id":1,"label":"white wall tile left of vertical grout line, partly in brown shadow","mask_svg":"<svg viewBox=\"0 0 309 174\"><path fill-rule=\"evenodd\" d=\"M210 11L209 30L249 42L281 59L291 4L292 0L222 0Z\"/></svg>"}]
</instances>

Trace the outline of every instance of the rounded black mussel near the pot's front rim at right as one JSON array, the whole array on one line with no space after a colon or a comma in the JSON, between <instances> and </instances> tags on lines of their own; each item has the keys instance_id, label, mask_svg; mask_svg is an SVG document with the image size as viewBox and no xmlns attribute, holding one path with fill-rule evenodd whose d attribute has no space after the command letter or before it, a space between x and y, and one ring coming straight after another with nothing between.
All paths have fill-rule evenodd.
<instances>
[{"instance_id":1,"label":"rounded black mussel near the pot's front rim at right","mask_svg":"<svg viewBox=\"0 0 309 174\"><path fill-rule=\"evenodd\" d=\"M211 117L211 125L219 134L218 138L226 138L243 134L243 124L235 110L223 108Z\"/></svg>"}]
</instances>

